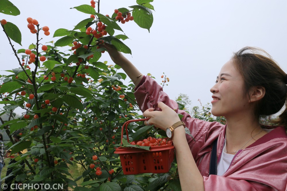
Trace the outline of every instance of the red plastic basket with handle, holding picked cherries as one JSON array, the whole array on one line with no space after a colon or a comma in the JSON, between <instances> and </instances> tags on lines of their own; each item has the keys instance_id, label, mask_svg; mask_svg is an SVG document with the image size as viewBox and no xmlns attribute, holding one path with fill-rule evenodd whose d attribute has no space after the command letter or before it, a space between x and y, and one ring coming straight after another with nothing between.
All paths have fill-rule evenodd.
<instances>
[{"instance_id":1,"label":"red plastic basket with handle, holding picked cherries","mask_svg":"<svg viewBox=\"0 0 287 191\"><path fill-rule=\"evenodd\" d=\"M127 141L129 142L127 125L131 122L145 120L148 119L134 119L125 122L121 131L121 140L123 139L124 127L127 133ZM150 151L133 147L118 147L114 153L119 154L123 174L125 175L140 173L166 173L170 170L171 164L174 160L173 144L150 147Z\"/></svg>"}]
</instances>

